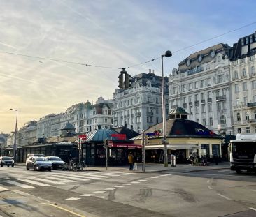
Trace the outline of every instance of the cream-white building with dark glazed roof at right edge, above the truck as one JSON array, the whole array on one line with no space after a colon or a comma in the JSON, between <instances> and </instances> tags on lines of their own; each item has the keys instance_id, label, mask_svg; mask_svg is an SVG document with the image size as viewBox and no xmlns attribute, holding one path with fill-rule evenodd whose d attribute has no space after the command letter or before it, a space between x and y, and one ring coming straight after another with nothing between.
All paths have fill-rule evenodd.
<instances>
[{"instance_id":1,"label":"cream-white building with dark glazed roof at right edge, above the truck","mask_svg":"<svg viewBox=\"0 0 256 217\"><path fill-rule=\"evenodd\" d=\"M234 134L256 133L256 32L235 43L230 66Z\"/></svg>"}]
</instances>

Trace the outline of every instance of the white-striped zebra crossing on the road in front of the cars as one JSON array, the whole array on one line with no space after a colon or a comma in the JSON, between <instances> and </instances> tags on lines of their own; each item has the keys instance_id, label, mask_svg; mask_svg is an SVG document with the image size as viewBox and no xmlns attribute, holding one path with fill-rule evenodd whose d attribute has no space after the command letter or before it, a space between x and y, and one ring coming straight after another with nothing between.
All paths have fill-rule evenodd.
<instances>
[{"instance_id":1,"label":"white-striped zebra crossing on the road in front of the cars","mask_svg":"<svg viewBox=\"0 0 256 217\"><path fill-rule=\"evenodd\" d=\"M10 190L12 187L18 188L36 188L45 186L54 186L69 184L77 181L97 181L101 179L108 179L112 177L126 176L130 173L126 172L83 172L83 173L45 173L38 177L25 177L15 180L4 179L0 181L0 193ZM133 174L134 175L134 174Z\"/></svg>"}]
</instances>

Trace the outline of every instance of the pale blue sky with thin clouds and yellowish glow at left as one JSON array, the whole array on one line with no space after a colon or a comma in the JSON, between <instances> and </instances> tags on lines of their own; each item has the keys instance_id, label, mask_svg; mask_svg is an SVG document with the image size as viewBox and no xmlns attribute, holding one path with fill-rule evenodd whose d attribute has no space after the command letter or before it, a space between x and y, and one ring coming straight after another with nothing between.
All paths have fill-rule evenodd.
<instances>
[{"instance_id":1,"label":"pale blue sky with thin clouds and yellowish glow at left","mask_svg":"<svg viewBox=\"0 0 256 217\"><path fill-rule=\"evenodd\" d=\"M169 76L194 52L232 46L256 31L255 6L254 0L1 0L0 133L15 130L10 108L18 110L21 128L76 103L111 99L120 68L137 65L127 68L131 76L149 69L162 75L166 50L173 53L164 57Z\"/></svg>"}]
</instances>

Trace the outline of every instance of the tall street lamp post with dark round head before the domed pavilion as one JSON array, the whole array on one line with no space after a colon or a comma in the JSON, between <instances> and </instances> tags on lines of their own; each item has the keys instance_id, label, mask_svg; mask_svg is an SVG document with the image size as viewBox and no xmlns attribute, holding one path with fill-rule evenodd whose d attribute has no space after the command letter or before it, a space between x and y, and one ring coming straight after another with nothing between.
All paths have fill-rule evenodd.
<instances>
[{"instance_id":1,"label":"tall street lamp post with dark round head before the domed pavilion","mask_svg":"<svg viewBox=\"0 0 256 217\"><path fill-rule=\"evenodd\" d=\"M167 144L166 144L166 118L165 118L165 100L164 100L164 63L163 57L171 57L171 51L167 50L161 55L162 61L162 118L163 118L163 141L164 144L164 167L168 167Z\"/></svg>"}]
</instances>

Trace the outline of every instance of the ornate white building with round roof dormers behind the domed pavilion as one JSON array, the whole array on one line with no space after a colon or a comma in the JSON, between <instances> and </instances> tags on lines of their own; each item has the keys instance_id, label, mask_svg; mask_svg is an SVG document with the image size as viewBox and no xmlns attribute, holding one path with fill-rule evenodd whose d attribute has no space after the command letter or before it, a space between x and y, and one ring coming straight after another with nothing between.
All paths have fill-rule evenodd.
<instances>
[{"instance_id":1,"label":"ornate white building with round roof dormers behind the domed pavilion","mask_svg":"<svg viewBox=\"0 0 256 217\"><path fill-rule=\"evenodd\" d=\"M188 119L215 133L233 133L229 57L232 47L218 44L179 63L169 76L169 109L183 107Z\"/></svg>"}]
</instances>

